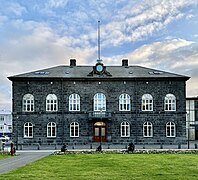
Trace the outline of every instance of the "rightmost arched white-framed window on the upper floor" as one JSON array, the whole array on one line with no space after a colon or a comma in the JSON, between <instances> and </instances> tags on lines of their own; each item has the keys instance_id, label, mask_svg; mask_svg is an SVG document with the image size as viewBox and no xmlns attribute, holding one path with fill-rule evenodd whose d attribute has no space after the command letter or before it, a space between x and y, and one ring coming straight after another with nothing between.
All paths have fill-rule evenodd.
<instances>
[{"instance_id":1,"label":"rightmost arched white-framed window on the upper floor","mask_svg":"<svg viewBox=\"0 0 198 180\"><path fill-rule=\"evenodd\" d=\"M167 94L164 98L164 110L176 111L176 97L173 94Z\"/></svg>"}]
</instances>

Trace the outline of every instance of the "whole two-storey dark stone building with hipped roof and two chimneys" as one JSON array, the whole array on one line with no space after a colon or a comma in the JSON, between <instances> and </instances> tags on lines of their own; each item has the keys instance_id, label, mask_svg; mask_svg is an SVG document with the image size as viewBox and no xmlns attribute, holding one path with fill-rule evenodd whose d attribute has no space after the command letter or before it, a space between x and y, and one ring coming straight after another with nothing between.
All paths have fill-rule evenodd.
<instances>
[{"instance_id":1,"label":"whole two-storey dark stone building with hipped roof and two chimneys","mask_svg":"<svg viewBox=\"0 0 198 180\"><path fill-rule=\"evenodd\" d=\"M187 76L71 59L8 78L17 144L186 143Z\"/></svg>"}]
</instances>

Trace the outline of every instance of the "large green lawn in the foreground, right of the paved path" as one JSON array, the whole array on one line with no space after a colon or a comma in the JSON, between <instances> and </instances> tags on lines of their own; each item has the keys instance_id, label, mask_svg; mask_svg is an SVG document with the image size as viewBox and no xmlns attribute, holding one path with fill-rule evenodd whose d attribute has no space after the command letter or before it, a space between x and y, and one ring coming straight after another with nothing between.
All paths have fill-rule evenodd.
<instances>
[{"instance_id":1,"label":"large green lawn in the foreground, right of the paved path","mask_svg":"<svg viewBox=\"0 0 198 180\"><path fill-rule=\"evenodd\" d=\"M197 154L50 155L0 179L198 179Z\"/></svg>"}]
</instances>

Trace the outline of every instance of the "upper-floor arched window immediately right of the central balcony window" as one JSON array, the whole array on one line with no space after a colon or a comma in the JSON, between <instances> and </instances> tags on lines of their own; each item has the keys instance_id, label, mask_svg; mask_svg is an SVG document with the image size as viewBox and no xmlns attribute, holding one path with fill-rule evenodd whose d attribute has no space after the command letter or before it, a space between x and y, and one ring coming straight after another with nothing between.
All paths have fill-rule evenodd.
<instances>
[{"instance_id":1,"label":"upper-floor arched window immediately right of the central balcony window","mask_svg":"<svg viewBox=\"0 0 198 180\"><path fill-rule=\"evenodd\" d=\"M119 110L120 111L130 111L130 96L128 94L121 94L119 97Z\"/></svg>"}]
</instances>

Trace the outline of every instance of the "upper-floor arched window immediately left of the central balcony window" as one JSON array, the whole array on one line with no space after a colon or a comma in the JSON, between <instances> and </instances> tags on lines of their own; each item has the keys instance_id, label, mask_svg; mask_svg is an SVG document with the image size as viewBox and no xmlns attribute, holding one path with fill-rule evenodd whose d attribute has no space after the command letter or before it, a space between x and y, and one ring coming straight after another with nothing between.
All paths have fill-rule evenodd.
<instances>
[{"instance_id":1,"label":"upper-floor arched window immediately left of the central balcony window","mask_svg":"<svg viewBox=\"0 0 198 180\"><path fill-rule=\"evenodd\" d=\"M69 111L80 111L80 96L78 94L69 96Z\"/></svg>"}]
</instances>

